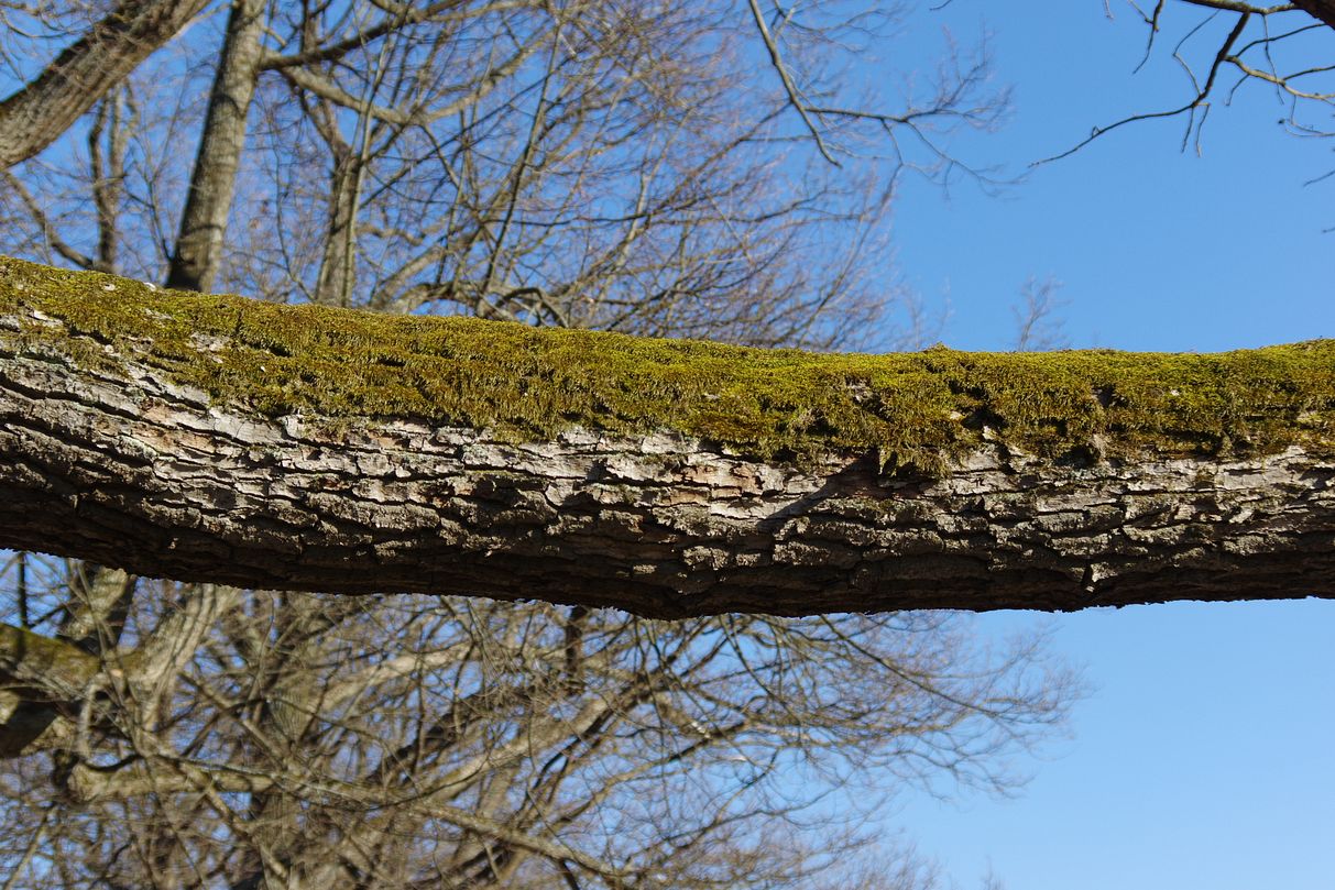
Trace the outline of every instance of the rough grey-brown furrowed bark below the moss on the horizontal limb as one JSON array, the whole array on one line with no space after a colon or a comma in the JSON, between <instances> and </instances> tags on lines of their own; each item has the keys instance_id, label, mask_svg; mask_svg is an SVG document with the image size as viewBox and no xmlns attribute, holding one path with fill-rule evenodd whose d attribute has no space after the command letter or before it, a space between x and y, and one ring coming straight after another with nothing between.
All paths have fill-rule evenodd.
<instances>
[{"instance_id":1,"label":"rough grey-brown furrowed bark below the moss on the horizontal limb","mask_svg":"<svg viewBox=\"0 0 1335 890\"><path fill-rule=\"evenodd\" d=\"M1300 446L1061 466L999 443L889 479L676 434L264 420L8 334L0 362L0 546L139 575L654 616L1335 595L1335 459Z\"/></svg>"}]
</instances>

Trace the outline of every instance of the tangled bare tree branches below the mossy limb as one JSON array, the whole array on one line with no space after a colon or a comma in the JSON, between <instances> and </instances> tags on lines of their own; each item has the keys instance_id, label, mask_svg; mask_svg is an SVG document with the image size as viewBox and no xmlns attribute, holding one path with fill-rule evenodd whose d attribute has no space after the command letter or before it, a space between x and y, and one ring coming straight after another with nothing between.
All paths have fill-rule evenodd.
<instances>
[{"instance_id":1,"label":"tangled bare tree branches below the mossy limb","mask_svg":"<svg viewBox=\"0 0 1335 890\"><path fill-rule=\"evenodd\" d=\"M59 608L51 592L29 595ZM804 817L814 787L1004 786L992 755L1069 691L1036 651L980 658L932 612L655 623L156 592L56 718L69 738L12 761L11 862L44 833L29 881L798 886L860 839Z\"/></svg>"}]
</instances>

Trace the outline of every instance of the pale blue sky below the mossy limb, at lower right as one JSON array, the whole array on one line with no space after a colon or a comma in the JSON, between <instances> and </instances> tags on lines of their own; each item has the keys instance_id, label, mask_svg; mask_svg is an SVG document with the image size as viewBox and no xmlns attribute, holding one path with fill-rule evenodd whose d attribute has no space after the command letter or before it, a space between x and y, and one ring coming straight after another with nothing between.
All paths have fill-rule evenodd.
<instances>
[{"instance_id":1,"label":"pale blue sky below the mossy limb, at lower right","mask_svg":"<svg viewBox=\"0 0 1335 890\"><path fill-rule=\"evenodd\" d=\"M996 799L909 793L886 813L963 887L1330 890L1335 886L1335 603L1139 606L1051 622L1093 694L1073 738Z\"/></svg>"}]
</instances>

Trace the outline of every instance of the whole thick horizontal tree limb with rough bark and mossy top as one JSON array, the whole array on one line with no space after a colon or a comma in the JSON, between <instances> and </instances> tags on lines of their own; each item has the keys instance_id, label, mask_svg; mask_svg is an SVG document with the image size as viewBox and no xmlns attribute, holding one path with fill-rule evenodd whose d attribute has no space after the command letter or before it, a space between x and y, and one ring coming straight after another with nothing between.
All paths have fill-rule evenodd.
<instances>
[{"instance_id":1,"label":"whole thick horizontal tree limb with rough bark and mossy top","mask_svg":"<svg viewBox=\"0 0 1335 890\"><path fill-rule=\"evenodd\" d=\"M0 260L0 546L642 615L1335 591L1335 342L817 355Z\"/></svg>"}]
</instances>

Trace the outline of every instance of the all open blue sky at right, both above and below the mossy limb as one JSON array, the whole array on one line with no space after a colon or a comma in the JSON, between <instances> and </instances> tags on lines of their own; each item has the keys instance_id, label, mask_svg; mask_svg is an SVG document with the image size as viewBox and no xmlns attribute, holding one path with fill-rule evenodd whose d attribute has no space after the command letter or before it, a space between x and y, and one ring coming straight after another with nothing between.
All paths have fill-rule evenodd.
<instances>
[{"instance_id":1,"label":"all open blue sky at right, both above and below the mossy limb","mask_svg":"<svg viewBox=\"0 0 1335 890\"><path fill-rule=\"evenodd\" d=\"M1168 7L1177 21L1192 15ZM1109 23L1101 0L955 0L913 20L993 33L1016 113L971 139L976 157L1020 171L1096 124L1181 103L1171 43L1132 76L1144 27L1123 0L1112 9ZM1318 37L1335 63L1335 32ZM1181 121L1135 124L1000 197L964 185L945 200L910 183L896 211L898 272L929 302L949 292L943 339L963 348L1008 346L1031 275L1064 282L1076 347L1335 336L1335 234L1322 231L1335 227L1335 181L1304 187L1335 168L1332 140L1286 135L1283 113L1244 89L1212 109L1200 157L1181 153ZM1003 612L979 627L1037 620L1055 623L1057 648L1095 686L1075 737L1028 762L1036 778L1017 799L909 794L888 827L963 887L989 869L1008 890L1335 887L1335 602Z\"/></svg>"}]
</instances>

